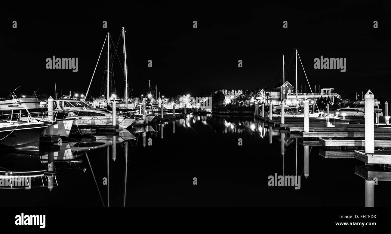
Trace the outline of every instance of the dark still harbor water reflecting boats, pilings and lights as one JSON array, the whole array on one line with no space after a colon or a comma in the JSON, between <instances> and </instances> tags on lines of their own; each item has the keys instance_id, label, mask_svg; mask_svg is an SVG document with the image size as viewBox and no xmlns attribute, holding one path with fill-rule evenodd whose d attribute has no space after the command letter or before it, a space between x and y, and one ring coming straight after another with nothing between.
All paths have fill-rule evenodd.
<instances>
[{"instance_id":1,"label":"dark still harbor water reflecting boats, pilings and lights","mask_svg":"<svg viewBox=\"0 0 391 234\"><path fill-rule=\"evenodd\" d=\"M361 162L325 158L321 146L308 146L305 167L303 140L262 126L251 117L189 115L163 128L137 128L134 140L127 140L128 133L116 135L115 152L112 136L63 141L53 153L2 152L1 175L44 171L53 168L53 159L57 174L56 180L33 177L29 190L0 187L0 199L8 201L3 206L22 207L365 205L365 180L355 175ZM269 186L275 173L300 175L300 189ZM389 207L390 182L374 187L375 207Z\"/></svg>"}]
</instances>

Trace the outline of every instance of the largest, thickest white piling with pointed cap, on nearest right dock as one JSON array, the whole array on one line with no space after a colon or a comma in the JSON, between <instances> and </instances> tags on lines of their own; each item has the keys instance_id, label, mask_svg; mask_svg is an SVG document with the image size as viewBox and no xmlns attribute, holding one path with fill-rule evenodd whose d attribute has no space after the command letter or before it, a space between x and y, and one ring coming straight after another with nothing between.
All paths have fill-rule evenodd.
<instances>
[{"instance_id":1,"label":"largest, thickest white piling with pointed cap, on nearest right dock","mask_svg":"<svg viewBox=\"0 0 391 234\"><path fill-rule=\"evenodd\" d=\"M365 94L365 153L375 153L375 124L374 124L374 100L375 95L368 90Z\"/></svg>"}]
</instances>

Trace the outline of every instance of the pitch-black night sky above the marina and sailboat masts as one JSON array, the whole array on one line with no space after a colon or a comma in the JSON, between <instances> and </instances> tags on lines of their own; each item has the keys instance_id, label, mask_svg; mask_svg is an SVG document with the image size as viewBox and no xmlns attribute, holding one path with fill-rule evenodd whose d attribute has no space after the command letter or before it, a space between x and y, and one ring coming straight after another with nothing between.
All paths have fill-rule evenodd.
<instances>
[{"instance_id":1,"label":"pitch-black night sky above the marina and sailboat masts","mask_svg":"<svg viewBox=\"0 0 391 234\"><path fill-rule=\"evenodd\" d=\"M148 80L170 97L274 87L281 80L282 54L288 66L295 48L312 88L335 88L339 94L370 88L375 98L391 97L391 8L385 2L107 4L4 7L1 96L20 85L17 94L33 94L39 88L38 94L54 95L54 83L59 95L85 94L107 32L114 44L111 49L118 43L117 55L111 56L116 92L122 96L120 33L126 27L129 82L136 97L149 92ZM102 27L104 20L108 29ZM284 20L287 29L282 27ZM93 96L105 94L106 51L105 46L91 85ZM322 55L346 58L346 72L314 69L314 58ZM45 60L52 56L79 58L79 71L46 69ZM149 59L152 68L147 67ZM293 62L286 80L295 85ZM299 66L300 87L307 82Z\"/></svg>"}]
</instances>

